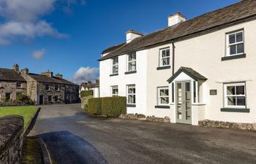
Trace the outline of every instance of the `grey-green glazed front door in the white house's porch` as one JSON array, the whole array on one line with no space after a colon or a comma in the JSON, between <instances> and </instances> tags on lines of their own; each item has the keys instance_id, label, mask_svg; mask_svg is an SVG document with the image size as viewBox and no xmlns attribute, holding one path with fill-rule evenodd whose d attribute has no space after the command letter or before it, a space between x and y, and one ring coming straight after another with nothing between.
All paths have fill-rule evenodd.
<instances>
[{"instance_id":1,"label":"grey-green glazed front door in the white house's porch","mask_svg":"<svg viewBox=\"0 0 256 164\"><path fill-rule=\"evenodd\" d=\"M176 82L176 122L191 124L191 82Z\"/></svg>"}]
</instances>

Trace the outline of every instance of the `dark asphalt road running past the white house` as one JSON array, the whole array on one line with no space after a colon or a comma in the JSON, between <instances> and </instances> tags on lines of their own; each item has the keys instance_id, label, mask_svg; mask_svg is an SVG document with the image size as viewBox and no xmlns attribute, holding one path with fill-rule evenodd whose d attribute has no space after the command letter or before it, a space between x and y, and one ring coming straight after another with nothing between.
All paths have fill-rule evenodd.
<instances>
[{"instance_id":1,"label":"dark asphalt road running past the white house","mask_svg":"<svg viewBox=\"0 0 256 164\"><path fill-rule=\"evenodd\" d=\"M89 117L80 104L42 106L34 135L57 164L256 163L256 133Z\"/></svg>"}]
</instances>

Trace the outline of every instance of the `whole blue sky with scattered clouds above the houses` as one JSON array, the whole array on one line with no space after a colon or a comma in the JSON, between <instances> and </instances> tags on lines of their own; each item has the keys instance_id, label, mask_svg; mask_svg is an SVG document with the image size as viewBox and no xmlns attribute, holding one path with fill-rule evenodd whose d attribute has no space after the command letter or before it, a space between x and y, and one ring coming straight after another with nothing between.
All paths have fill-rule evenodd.
<instances>
[{"instance_id":1,"label":"whole blue sky with scattered clouds above the houses","mask_svg":"<svg viewBox=\"0 0 256 164\"><path fill-rule=\"evenodd\" d=\"M98 76L100 52L134 29L167 27L167 16L188 19L239 0L1 0L0 67L50 70L75 82ZM75 77L74 77L75 75Z\"/></svg>"}]
</instances>

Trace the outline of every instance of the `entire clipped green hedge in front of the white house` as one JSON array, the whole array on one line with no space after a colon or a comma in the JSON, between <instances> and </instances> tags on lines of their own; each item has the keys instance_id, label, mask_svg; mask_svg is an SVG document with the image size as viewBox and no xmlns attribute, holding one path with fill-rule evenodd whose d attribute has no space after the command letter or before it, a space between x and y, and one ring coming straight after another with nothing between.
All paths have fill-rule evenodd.
<instances>
[{"instance_id":1,"label":"entire clipped green hedge in front of the white house","mask_svg":"<svg viewBox=\"0 0 256 164\"><path fill-rule=\"evenodd\" d=\"M105 97L91 98L88 104L89 114L118 117L120 114L127 114L126 97Z\"/></svg>"}]
</instances>

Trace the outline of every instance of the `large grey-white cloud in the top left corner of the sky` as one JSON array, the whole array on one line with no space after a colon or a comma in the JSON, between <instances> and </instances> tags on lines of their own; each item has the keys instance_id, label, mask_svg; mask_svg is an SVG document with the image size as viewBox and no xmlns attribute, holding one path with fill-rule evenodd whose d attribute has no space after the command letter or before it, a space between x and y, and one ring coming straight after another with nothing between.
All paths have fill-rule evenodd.
<instances>
[{"instance_id":1,"label":"large grey-white cloud in the top left corner of the sky","mask_svg":"<svg viewBox=\"0 0 256 164\"><path fill-rule=\"evenodd\" d=\"M10 44L17 38L34 39L37 36L67 38L42 16L53 12L58 3L62 7L85 4L83 0L0 0L0 44Z\"/></svg>"}]
</instances>

